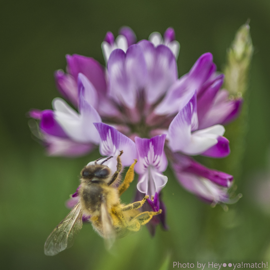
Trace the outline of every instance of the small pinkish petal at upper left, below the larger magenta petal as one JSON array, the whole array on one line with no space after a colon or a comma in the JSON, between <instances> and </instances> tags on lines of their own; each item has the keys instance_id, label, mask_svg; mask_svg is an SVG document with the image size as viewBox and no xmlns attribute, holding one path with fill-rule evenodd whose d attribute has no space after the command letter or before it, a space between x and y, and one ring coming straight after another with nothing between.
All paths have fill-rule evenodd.
<instances>
[{"instance_id":1,"label":"small pinkish petal at upper left, below the larger magenta petal","mask_svg":"<svg viewBox=\"0 0 270 270\"><path fill-rule=\"evenodd\" d=\"M65 74L61 69L55 71L54 77L58 91L77 107L78 88L75 79L69 74Z\"/></svg>"}]
</instances>

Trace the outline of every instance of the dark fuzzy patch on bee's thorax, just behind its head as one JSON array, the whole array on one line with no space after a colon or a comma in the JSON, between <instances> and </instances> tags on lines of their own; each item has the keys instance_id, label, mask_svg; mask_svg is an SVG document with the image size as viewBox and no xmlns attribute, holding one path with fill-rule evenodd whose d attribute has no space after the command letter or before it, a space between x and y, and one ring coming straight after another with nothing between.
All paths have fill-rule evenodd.
<instances>
[{"instance_id":1,"label":"dark fuzzy patch on bee's thorax, just behind its head","mask_svg":"<svg viewBox=\"0 0 270 270\"><path fill-rule=\"evenodd\" d=\"M104 200L103 188L100 185L86 185L82 190L82 198L85 208L91 212L99 211Z\"/></svg>"}]
</instances>

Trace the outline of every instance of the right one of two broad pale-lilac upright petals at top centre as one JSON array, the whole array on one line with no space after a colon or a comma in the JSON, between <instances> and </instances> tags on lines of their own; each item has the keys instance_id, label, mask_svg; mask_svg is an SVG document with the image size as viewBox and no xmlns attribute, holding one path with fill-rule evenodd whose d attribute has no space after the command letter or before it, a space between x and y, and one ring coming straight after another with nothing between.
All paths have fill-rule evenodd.
<instances>
[{"instance_id":1,"label":"right one of two broad pale-lilac upright petals at top centre","mask_svg":"<svg viewBox=\"0 0 270 270\"><path fill-rule=\"evenodd\" d=\"M153 104L177 80L176 60L171 50L164 45L155 48L148 40L141 40L138 44L143 50L148 70L144 87L146 100L149 104Z\"/></svg>"}]
</instances>

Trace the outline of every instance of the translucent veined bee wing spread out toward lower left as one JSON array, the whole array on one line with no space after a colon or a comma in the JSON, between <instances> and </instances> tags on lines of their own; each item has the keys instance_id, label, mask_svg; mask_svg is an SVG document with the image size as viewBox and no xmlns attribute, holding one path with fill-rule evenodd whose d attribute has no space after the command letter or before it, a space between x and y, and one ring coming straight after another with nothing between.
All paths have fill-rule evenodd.
<instances>
[{"instance_id":1,"label":"translucent veined bee wing spread out toward lower left","mask_svg":"<svg viewBox=\"0 0 270 270\"><path fill-rule=\"evenodd\" d=\"M70 213L55 227L45 242L45 255L53 256L73 245L74 236L82 228L82 210L77 203Z\"/></svg>"}]
</instances>

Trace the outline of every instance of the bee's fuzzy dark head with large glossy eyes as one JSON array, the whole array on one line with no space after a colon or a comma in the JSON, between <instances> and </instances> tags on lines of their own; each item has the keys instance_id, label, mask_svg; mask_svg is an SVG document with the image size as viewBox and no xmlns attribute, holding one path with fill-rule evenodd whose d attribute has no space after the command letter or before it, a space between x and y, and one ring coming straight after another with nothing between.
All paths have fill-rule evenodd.
<instances>
[{"instance_id":1,"label":"bee's fuzzy dark head with large glossy eyes","mask_svg":"<svg viewBox=\"0 0 270 270\"><path fill-rule=\"evenodd\" d=\"M88 183L105 182L110 174L110 168L100 164L85 166L81 171L82 179Z\"/></svg>"}]
</instances>

